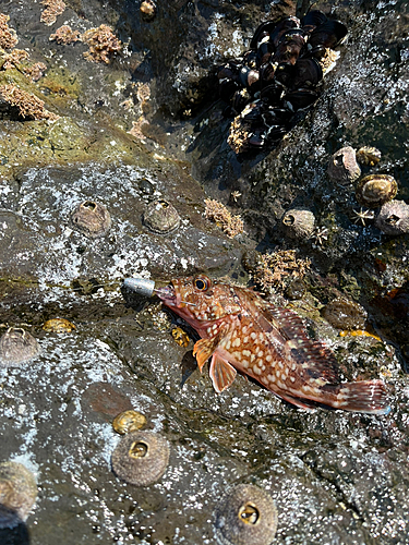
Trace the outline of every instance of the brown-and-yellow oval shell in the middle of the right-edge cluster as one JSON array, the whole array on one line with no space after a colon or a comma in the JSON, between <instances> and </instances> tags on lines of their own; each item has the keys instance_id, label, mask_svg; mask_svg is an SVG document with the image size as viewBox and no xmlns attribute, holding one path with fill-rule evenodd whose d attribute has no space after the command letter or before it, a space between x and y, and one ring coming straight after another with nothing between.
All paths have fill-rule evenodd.
<instances>
[{"instance_id":1,"label":"brown-and-yellow oval shell in the middle of the right-edge cluster","mask_svg":"<svg viewBox=\"0 0 409 545\"><path fill-rule=\"evenodd\" d=\"M388 174L370 174L357 185L357 201L368 208L377 208L392 201L398 192L396 180Z\"/></svg>"}]
</instances>

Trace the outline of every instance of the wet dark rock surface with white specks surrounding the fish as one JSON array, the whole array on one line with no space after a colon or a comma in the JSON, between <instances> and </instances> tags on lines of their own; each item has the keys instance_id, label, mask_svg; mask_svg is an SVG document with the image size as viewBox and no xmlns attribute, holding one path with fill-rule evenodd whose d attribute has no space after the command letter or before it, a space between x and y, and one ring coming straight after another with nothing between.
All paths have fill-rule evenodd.
<instances>
[{"instance_id":1,"label":"wet dark rock surface with white specks surrounding the fish","mask_svg":"<svg viewBox=\"0 0 409 545\"><path fill-rule=\"evenodd\" d=\"M302 14L301 2L164 1L149 20L135 2L87 0L67 2L49 26L40 3L1 7L31 58L1 64L0 85L59 117L22 119L0 105L0 335L24 329L39 346L19 367L0 365L0 461L23 463L38 485L26 525L1 529L1 543L213 545L215 510L242 483L275 501L273 543L408 542L409 235L380 229L381 208L371 216L357 202L359 180L335 184L327 172L340 148L376 147L380 161L361 175L393 175L390 203L409 202L408 7L314 8L349 28L322 97L276 148L238 159L216 68L269 15ZM63 24L109 25L121 49L112 41L108 63L89 60L84 41L50 41ZM48 70L33 81L25 62ZM206 219L206 198L240 215L244 233ZM171 232L144 222L158 201L180 217ZM104 206L109 229L75 229L82 203ZM313 214L308 237L282 237L291 209ZM388 415L302 412L242 376L217 395L192 355L194 331L120 290L129 276L199 271L246 283L242 257L260 262L255 250L311 261L270 298L326 341L345 379L383 378ZM55 318L74 327L44 328ZM111 423L128 410L169 443L164 476L146 487L112 472L121 437Z\"/></svg>"}]
</instances>

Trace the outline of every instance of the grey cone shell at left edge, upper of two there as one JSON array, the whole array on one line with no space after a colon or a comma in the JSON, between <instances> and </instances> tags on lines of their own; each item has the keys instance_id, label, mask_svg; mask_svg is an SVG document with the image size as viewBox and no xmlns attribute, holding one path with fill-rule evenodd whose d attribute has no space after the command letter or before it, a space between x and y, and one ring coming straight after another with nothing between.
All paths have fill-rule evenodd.
<instances>
[{"instance_id":1,"label":"grey cone shell at left edge, upper of two there","mask_svg":"<svg viewBox=\"0 0 409 545\"><path fill-rule=\"evenodd\" d=\"M39 353L37 340L21 327L9 327L0 339L0 366L17 367Z\"/></svg>"}]
</instances>

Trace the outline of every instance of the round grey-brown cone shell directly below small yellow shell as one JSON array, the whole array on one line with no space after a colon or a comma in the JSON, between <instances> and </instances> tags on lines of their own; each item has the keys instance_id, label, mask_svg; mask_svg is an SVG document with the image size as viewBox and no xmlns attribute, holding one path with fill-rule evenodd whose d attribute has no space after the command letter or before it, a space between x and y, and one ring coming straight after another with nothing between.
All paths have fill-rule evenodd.
<instances>
[{"instance_id":1,"label":"round grey-brown cone shell directly below small yellow shell","mask_svg":"<svg viewBox=\"0 0 409 545\"><path fill-rule=\"evenodd\" d=\"M131 432L113 450L111 462L113 472L127 483L148 486L166 471L169 444L154 432Z\"/></svg>"}]
</instances>

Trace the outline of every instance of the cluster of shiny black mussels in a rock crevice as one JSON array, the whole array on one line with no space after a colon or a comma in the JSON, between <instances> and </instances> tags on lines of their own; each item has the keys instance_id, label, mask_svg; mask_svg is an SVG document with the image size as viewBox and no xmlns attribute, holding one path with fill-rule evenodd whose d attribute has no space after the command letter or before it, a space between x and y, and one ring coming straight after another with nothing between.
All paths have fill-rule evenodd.
<instances>
[{"instance_id":1,"label":"cluster of shiny black mussels in a rock crevice","mask_svg":"<svg viewBox=\"0 0 409 545\"><path fill-rule=\"evenodd\" d=\"M339 21L318 10L301 21L266 21L255 31L250 50L218 70L220 97L234 121L228 143L236 153L262 148L293 126L298 111L313 105L325 70L347 35Z\"/></svg>"}]
</instances>

